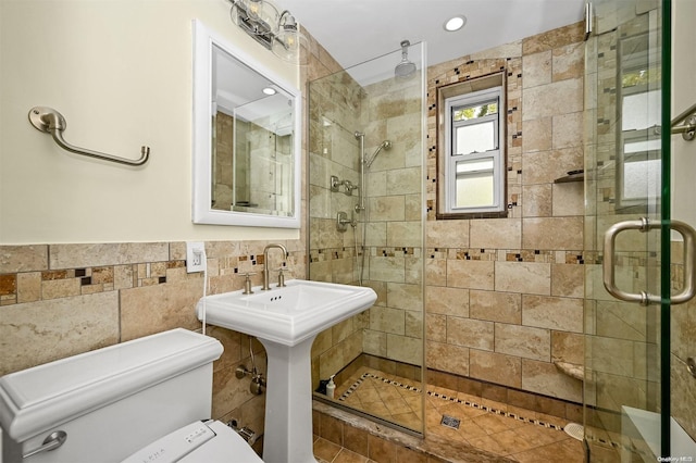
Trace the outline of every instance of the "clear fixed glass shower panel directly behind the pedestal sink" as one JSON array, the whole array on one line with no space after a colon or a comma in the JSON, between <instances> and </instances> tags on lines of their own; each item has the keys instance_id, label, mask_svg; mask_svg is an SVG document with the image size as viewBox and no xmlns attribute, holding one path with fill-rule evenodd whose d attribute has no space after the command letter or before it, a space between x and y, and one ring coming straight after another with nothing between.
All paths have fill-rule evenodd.
<instances>
[{"instance_id":1,"label":"clear fixed glass shower panel directly behind the pedestal sink","mask_svg":"<svg viewBox=\"0 0 696 463\"><path fill-rule=\"evenodd\" d=\"M308 91L309 278L377 293L373 308L318 336L315 397L417 434L424 423L424 62L422 43L407 46L312 80ZM324 393L332 376L333 399Z\"/></svg>"}]
</instances>

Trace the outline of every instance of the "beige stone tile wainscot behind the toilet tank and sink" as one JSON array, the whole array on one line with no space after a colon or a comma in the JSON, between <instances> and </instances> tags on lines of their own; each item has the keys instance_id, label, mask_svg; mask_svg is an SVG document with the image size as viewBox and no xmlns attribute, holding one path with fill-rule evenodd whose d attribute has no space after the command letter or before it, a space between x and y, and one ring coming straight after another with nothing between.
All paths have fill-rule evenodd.
<instances>
[{"instance_id":1,"label":"beige stone tile wainscot behind the toilet tank and sink","mask_svg":"<svg viewBox=\"0 0 696 463\"><path fill-rule=\"evenodd\" d=\"M303 243L284 243L291 276L303 277ZM246 272L260 285L265 245L207 242L208 293L241 289ZM0 246L0 375L176 327L201 329L203 277L187 274L185 259L184 242ZM213 365L213 417L261 431L264 396L235 377L237 365L251 366L249 338L212 326L207 334L224 346ZM253 349L264 371L263 348L254 340Z\"/></svg>"}]
</instances>

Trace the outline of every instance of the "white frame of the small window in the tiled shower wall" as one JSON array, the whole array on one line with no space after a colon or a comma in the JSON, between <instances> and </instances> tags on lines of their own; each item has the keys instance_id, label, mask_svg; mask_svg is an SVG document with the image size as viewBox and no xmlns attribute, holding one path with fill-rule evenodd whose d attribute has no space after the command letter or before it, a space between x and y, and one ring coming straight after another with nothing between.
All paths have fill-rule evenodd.
<instances>
[{"instance_id":1,"label":"white frame of the small window in the tiled shower wall","mask_svg":"<svg viewBox=\"0 0 696 463\"><path fill-rule=\"evenodd\" d=\"M452 114L456 109L461 107L473 107L489 103L493 100L498 102L498 113L495 120L495 129L498 135L498 146L494 150L481 152L481 153L467 153L467 154L453 154L456 142L453 141L455 128L461 125L471 124L471 122L460 123L453 121ZM502 212L506 210L506 197L505 197L505 184L506 184L506 170L505 170L505 91L504 86L495 86L484 90L472 91L463 95L456 95L445 99L445 113L444 126L445 126L445 208L444 212L448 214L475 214L475 213L493 213ZM490 121L492 117L484 117L478 120L480 122ZM475 159L493 158L493 204L486 207L460 207L457 208L457 162L459 161L473 161Z\"/></svg>"}]
</instances>

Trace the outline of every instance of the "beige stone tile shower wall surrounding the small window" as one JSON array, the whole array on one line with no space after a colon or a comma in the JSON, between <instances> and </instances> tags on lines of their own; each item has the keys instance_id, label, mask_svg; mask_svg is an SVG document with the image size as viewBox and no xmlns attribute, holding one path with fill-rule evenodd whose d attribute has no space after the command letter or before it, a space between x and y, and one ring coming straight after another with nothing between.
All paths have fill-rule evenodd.
<instances>
[{"instance_id":1,"label":"beige stone tile shower wall surrounding the small window","mask_svg":"<svg viewBox=\"0 0 696 463\"><path fill-rule=\"evenodd\" d=\"M427 366L582 402L584 43L580 24L428 70ZM507 75L507 218L437 220L436 89Z\"/></svg>"}]
</instances>

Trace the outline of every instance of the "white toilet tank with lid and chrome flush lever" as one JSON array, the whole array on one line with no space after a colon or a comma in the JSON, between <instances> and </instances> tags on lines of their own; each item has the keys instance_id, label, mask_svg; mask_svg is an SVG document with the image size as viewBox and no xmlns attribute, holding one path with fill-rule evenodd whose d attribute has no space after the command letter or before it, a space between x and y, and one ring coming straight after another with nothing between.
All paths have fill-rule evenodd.
<instances>
[{"instance_id":1,"label":"white toilet tank with lid and chrome flush lever","mask_svg":"<svg viewBox=\"0 0 696 463\"><path fill-rule=\"evenodd\" d=\"M210 418L222 351L216 339L177 328L1 377L1 462L120 462ZM62 446L23 459L59 431Z\"/></svg>"}]
</instances>

